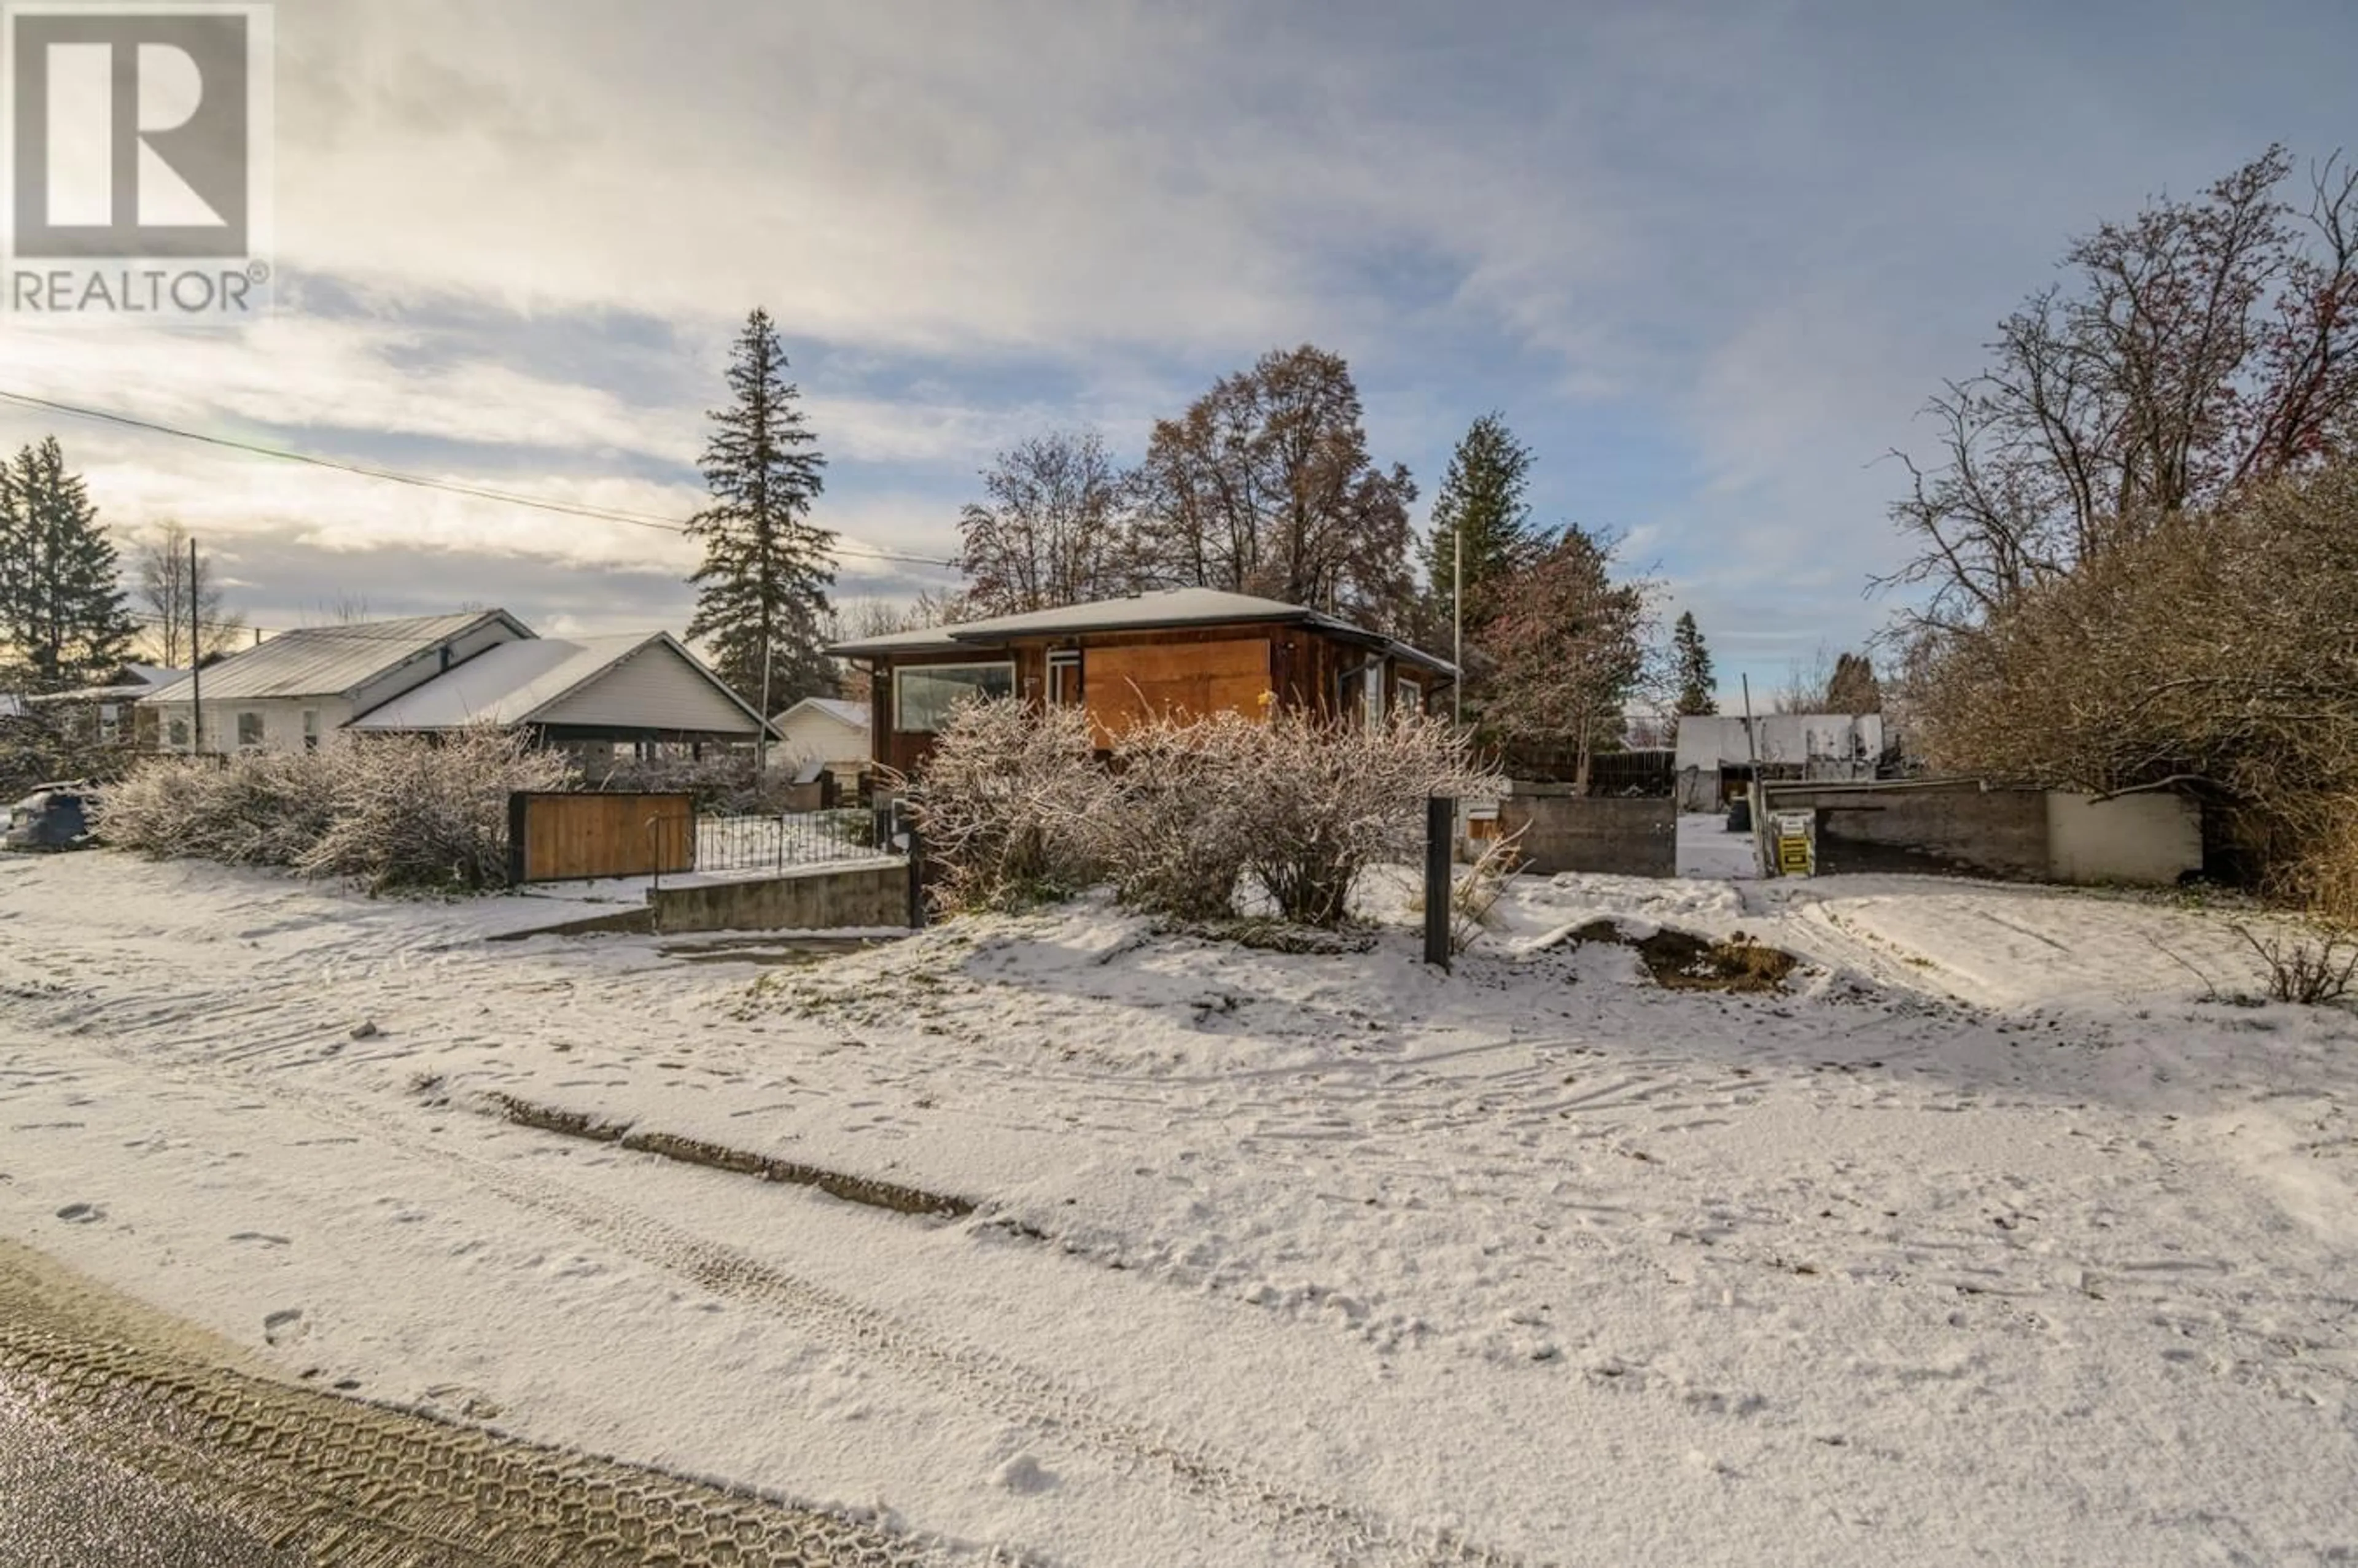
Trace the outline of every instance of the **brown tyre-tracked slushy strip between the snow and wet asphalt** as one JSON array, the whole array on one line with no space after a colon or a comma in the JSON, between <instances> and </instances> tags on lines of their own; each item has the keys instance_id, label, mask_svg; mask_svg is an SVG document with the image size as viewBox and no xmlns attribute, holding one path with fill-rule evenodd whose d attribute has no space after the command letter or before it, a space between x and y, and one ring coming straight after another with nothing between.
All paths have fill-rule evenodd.
<instances>
[{"instance_id":1,"label":"brown tyre-tracked slushy strip between the snow and wet asphalt","mask_svg":"<svg viewBox=\"0 0 2358 1568\"><path fill-rule=\"evenodd\" d=\"M292 1561L340 1568L957 1561L865 1521L163 1351L83 1342L5 1311L0 1384L80 1452L182 1488Z\"/></svg>"}]
</instances>

